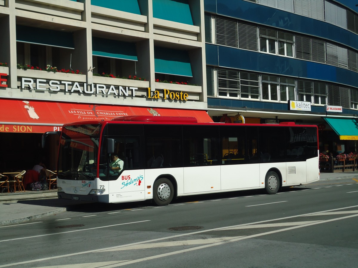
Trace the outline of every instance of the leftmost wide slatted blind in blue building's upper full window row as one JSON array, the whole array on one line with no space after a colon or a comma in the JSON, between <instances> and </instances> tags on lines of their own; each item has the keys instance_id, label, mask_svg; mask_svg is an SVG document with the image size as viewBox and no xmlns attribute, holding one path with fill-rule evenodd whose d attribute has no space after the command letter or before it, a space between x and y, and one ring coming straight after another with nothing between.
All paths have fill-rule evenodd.
<instances>
[{"instance_id":1,"label":"leftmost wide slatted blind in blue building's upper full window row","mask_svg":"<svg viewBox=\"0 0 358 268\"><path fill-rule=\"evenodd\" d=\"M237 22L216 18L216 43L238 47Z\"/></svg>"}]
</instances>

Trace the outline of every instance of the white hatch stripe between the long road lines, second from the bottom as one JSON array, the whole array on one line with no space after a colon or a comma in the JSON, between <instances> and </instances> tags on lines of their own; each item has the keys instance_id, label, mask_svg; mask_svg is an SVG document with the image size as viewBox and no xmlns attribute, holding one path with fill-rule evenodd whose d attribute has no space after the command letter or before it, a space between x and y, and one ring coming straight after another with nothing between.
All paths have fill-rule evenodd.
<instances>
[{"instance_id":1,"label":"white hatch stripe between the long road lines, second from the bottom","mask_svg":"<svg viewBox=\"0 0 358 268\"><path fill-rule=\"evenodd\" d=\"M182 240L182 241L170 241L170 242L159 242L159 243L147 243L147 244L137 244L131 245L124 248L112 248L107 250L102 250L101 252L108 251L118 251L118 250L132 250L132 249L146 249L146 248L163 248L163 247L175 247L175 246L186 246L186 245L203 245L203 244L212 244L222 241L231 240L234 238L244 237L245 235L236 236L236 237L221 237L221 238L209 238L209 239L193 239L193 240Z\"/></svg>"}]
</instances>

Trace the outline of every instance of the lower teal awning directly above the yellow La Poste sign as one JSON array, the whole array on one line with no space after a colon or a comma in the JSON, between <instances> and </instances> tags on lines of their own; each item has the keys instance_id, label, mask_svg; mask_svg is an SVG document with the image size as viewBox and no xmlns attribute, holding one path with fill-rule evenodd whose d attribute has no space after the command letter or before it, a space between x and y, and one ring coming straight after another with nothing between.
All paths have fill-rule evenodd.
<instances>
[{"instance_id":1,"label":"lower teal awning directly above the yellow La Poste sign","mask_svg":"<svg viewBox=\"0 0 358 268\"><path fill-rule=\"evenodd\" d=\"M188 51L154 47L154 70L159 74L193 77Z\"/></svg>"}]
</instances>

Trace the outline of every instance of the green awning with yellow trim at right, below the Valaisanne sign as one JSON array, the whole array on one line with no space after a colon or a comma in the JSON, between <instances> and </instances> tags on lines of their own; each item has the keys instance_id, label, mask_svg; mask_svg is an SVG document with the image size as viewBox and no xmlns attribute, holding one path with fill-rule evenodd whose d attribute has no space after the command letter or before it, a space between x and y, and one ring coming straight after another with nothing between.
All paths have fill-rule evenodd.
<instances>
[{"instance_id":1,"label":"green awning with yellow trim at right, below the Valaisanne sign","mask_svg":"<svg viewBox=\"0 0 358 268\"><path fill-rule=\"evenodd\" d=\"M340 140L358 140L358 122L355 119L324 118L339 135Z\"/></svg>"}]
</instances>

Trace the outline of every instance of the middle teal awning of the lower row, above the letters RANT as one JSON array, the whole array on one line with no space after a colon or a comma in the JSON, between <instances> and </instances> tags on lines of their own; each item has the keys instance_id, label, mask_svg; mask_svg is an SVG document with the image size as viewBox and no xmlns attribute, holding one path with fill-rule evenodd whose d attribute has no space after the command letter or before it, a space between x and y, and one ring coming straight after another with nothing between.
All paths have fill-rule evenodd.
<instances>
[{"instance_id":1,"label":"middle teal awning of the lower row, above the letters RANT","mask_svg":"<svg viewBox=\"0 0 358 268\"><path fill-rule=\"evenodd\" d=\"M92 55L124 60L138 60L134 43L98 37L92 37Z\"/></svg>"}]
</instances>

